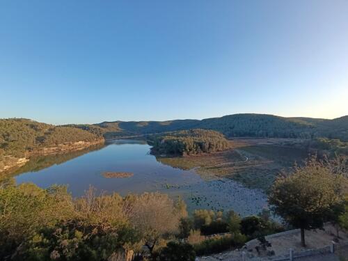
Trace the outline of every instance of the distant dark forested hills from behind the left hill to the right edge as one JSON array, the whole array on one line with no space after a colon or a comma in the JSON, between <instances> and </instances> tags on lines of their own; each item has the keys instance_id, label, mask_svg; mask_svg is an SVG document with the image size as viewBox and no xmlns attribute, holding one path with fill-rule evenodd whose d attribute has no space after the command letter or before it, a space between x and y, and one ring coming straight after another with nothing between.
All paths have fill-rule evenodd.
<instances>
[{"instance_id":1,"label":"distant dark forested hills from behind the left hill to the right edge","mask_svg":"<svg viewBox=\"0 0 348 261\"><path fill-rule=\"evenodd\" d=\"M226 137L254 136L303 138L327 137L348 141L348 116L334 120L316 118L284 118L267 114L234 114L204 120L168 120L141 122L102 122L95 125L70 125L105 136L173 132L185 129L212 129Z\"/></svg>"}]
</instances>

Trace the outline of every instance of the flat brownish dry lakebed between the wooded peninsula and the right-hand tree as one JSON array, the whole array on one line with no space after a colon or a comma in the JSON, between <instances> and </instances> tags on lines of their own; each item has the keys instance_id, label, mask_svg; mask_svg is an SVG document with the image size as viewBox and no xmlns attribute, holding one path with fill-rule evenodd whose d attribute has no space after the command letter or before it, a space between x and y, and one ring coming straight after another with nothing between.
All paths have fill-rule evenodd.
<instances>
[{"instance_id":1,"label":"flat brownish dry lakebed between the wooded peninsula and the right-hand tree","mask_svg":"<svg viewBox=\"0 0 348 261\"><path fill-rule=\"evenodd\" d=\"M251 189L267 190L281 170L301 164L308 152L301 140L233 139L231 150L193 157L157 157L157 161L184 170L194 169L203 178L211 175L236 180Z\"/></svg>"}]
</instances>

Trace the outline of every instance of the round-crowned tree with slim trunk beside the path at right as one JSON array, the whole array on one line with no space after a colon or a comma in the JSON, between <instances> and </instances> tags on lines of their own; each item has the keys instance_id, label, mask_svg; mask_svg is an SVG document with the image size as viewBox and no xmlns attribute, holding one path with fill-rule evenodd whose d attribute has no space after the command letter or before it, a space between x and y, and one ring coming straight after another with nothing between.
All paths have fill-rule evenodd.
<instances>
[{"instance_id":1,"label":"round-crowned tree with slim trunk beside the path at right","mask_svg":"<svg viewBox=\"0 0 348 261\"><path fill-rule=\"evenodd\" d=\"M346 191L347 178L313 157L303 167L295 166L292 175L277 178L269 204L276 214L301 229L301 244L306 246L304 230L322 228L338 215L337 206L345 200Z\"/></svg>"}]
</instances>

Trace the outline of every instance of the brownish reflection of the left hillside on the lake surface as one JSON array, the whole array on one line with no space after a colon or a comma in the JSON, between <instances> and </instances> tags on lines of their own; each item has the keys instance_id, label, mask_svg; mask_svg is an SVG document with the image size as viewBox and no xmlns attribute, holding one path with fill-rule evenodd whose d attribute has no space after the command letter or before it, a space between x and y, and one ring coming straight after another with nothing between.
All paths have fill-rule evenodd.
<instances>
[{"instance_id":1,"label":"brownish reflection of the left hillside on the lake surface","mask_svg":"<svg viewBox=\"0 0 348 261\"><path fill-rule=\"evenodd\" d=\"M92 145L84 150L75 150L72 152L31 157L30 161L28 161L27 164L25 164L21 168L18 168L15 172L11 173L11 175L15 176L15 175L19 175L21 173L26 173L26 172L41 171L44 168L48 168L55 164L56 165L62 164L65 161L69 161L70 159L74 159L88 152L92 152L94 150L100 150L104 148L104 146L105 146L104 144L97 144L97 145Z\"/></svg>"}]
</instances>

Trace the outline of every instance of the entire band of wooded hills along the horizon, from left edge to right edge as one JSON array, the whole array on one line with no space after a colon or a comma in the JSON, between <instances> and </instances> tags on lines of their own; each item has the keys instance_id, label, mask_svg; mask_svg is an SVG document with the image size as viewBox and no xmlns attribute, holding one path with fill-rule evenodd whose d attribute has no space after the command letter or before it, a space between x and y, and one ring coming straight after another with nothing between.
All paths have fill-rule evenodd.
<instances>
[{"instance_id":1,"label":"entire band of wooded hills along the horizon, from left edge to right edge","mask_svg":"<svg viewBox=\"0 0 348 261\"><path fill-rule=\"evenodd\" d=\"M26 119L0 120L0 157L21 156L28 150L60 143L139 136L188 129L209 129L226 137L254 136L314 139L325 137L348 142L348 116L334 120L283 118L262 114L235 114L204 120L164 122L102 122L95 125L54 126ZM326 142L327 143L327 142ZM346 147L346 145L338 145ZM344 152L347 150L344 149ZM1 156L2 155L2 156Z\"/></svg>"}]
</instances>

